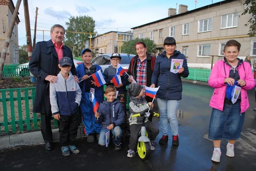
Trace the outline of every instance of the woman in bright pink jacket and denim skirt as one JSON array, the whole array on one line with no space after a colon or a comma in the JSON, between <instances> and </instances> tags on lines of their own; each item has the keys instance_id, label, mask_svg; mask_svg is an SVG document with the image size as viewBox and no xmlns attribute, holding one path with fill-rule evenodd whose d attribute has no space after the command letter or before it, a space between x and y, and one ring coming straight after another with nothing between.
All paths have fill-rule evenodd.
<instances>
[{"instance_id":1,"label":"woman in bright pink jacket and denim skirt","mask_svg":"<svg viewBox=\"0 0 256 171\"><path fill-rule=\"evenodd\" d=\"M212 161L220 162L220 142L228 139L228 157L234 157L234 144L240 137L244 124L245 110L249 108L246 90L254 88L255 81L249 63L237 58L241 44L229 40L224 47L224 59L216 62L212 68L209 85L214 87L210 101L212 115L208 138L213 140ZM238 99L233 104L230 92L233 85L241 87ZM230 87L231 86L231 87ZM228 89L227 89L228 87Z\"/></svg>"}]
</instances>

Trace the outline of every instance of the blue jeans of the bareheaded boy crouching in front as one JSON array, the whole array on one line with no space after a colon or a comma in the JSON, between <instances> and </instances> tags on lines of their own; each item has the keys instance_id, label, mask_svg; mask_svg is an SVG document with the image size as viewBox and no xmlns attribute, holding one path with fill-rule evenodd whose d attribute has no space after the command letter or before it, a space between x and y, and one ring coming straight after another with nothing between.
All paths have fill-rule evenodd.
<instances>
[{"instance_id":1,"label":"blue jeans of the bareheaded boy crouching in front","mask_svg":"<svg viewBox=\"0 0 256 171\"><path fill-rule=\"evenodd\" d=\"M100 137L99 137L99 145L106 145L106 132L109 130L107 126L104 126L100 130ZM114 129L110 130L113 134L113 143L119 144L121 142L123 130L120 126L116 126Z\"/></svg>"}]
</instances>

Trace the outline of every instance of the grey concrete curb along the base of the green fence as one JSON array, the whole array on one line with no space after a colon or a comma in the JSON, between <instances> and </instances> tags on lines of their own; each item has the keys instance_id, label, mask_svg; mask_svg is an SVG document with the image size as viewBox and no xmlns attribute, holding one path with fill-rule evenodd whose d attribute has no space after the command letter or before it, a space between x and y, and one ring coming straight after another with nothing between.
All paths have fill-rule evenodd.
<instances>
[{"instance_id":1,"label":"grey concrete curb along the base of the green fence","mask_svg":"<svg viewBox=\"0 0 256 171\"><path fill-rule=\"evenodd\" d=\"M80 131L81 130L81 131ZM84 134L84 125L80 125L80 128L77 130L76 138L86 137ZM60 138L59 129L52 130L52 139L53 142L58 142ZM41 131L36 132L27 132L23 134L13 134L0 137L0 150L6 148L13 148L18 146L25 145L37 145L44 144L44 139L42 137Z\"/></svg>"}]
</instances>

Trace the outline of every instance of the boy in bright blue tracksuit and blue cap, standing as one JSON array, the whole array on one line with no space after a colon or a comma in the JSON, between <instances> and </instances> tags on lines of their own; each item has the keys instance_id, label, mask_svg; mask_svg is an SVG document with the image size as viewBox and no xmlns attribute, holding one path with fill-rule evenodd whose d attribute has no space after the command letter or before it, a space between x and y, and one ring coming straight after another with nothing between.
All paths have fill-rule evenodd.
<instances>
[{"instance_id":1,"label":"boy in bright blue tracksuit and blue cap, standing","mask_svg":"<svg viewBox=\"0 0 256 171\"><path fill-rule=\"evenodd\" d=\"M82 122L84 123L84 126L85 126L84 133L88 135L87 142L93 143L95 141L94 140L95 133L97 136L97 140L99 139L101 126L95 121L92 102L89 100L90 89L91 88L94 89L94 97L99 103L101 103L103 101L103 86L97 87L93 78L89 76L99 70L101 70L101 73L102 73L102 69L99 65L91 63L92 51L89 48L85 48L84 50L82 50L81 58L84 61L84 63L81 63L76 67L76 76L78 77L79 81L81 81L79 83L79 86L82 91L80 108L81 108L81 113L83 117Z\"/></svg>"}]
</instances>

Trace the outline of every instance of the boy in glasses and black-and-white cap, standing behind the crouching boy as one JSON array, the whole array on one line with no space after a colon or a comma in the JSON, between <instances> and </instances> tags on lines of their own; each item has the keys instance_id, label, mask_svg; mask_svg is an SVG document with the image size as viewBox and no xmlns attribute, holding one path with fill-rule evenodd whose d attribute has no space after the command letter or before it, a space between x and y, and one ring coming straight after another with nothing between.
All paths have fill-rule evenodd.
<instances>
[{"instance_id":1,"label":"boy in glasses and black-and-white cap, standing behind the crouching boy","mask_svg":"<svg viewBox=\"0 0 256 171\"><path fill-rule=\"evenodd\" d=\"M112 81L112 78L116 75L116 67L117 67L117 64L121 63L121 60L122 57L120 56L119 53L113 53L110 57L110 61L111 61L111 64L110 66L108 66L108 68L106 68L103 72L104 76L105 76L105 80L106 80L106 83L107 83L107 86L108 85L114 85L113 81ZM127 114L126 114L126 99L125 99L125 87L126 85L129 84L129 81L128 81L128 75L126 73L123 74L123 76L121 76L121 84L115 86L116 87L116 90L118 91L118 94L117 94L117 99L121 102L123 108L124 108L124 116L125 116L125 121L124 121L124 130L125 130L125 134L128 135L130 134L130 127L129 127L129 123L128 123L128 117L127 117Z\"/></svg>"}]
</instances>

